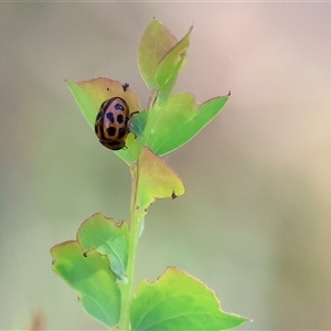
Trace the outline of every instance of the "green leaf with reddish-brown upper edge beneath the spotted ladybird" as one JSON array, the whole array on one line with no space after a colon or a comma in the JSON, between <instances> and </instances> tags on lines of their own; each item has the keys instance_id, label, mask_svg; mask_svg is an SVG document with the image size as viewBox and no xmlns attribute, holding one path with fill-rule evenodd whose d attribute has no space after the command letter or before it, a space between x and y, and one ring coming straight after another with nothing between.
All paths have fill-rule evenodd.
<instances>
[{"instance_id":1,"label":"green leaf with reddish-brown upper edge beneath the spotted ladybird","mask_svg":"<svg viewBox=\"0 0 331 331\"><path fill-rule=\"evenodd\" d=\"M113 97L124 98L130 109L130 113L139 111L142 109L137 94L130 88L122 88L122 83L109 79L109 78L94 78L83 82L66 81L72 94L74 95L81 111L86 118L87 122L94 130L95 118L98 114L99 107L103 102ZM131 164L137 160L139 147L134 139L134 135L130 134L126 140L126 149L115 151L115 153L121 158L127 164ZM103 147L96 137L96 143ZM104 147L103 147L104 148ZM110 150L104 148L105 151Z\"/></svg>"}]
</instances>

